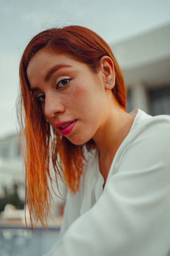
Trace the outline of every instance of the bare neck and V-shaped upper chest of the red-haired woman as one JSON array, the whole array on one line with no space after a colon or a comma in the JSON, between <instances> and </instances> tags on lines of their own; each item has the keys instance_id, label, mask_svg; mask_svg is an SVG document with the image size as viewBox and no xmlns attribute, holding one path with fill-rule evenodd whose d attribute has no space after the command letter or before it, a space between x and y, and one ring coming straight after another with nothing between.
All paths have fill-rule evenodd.
<instances>
[{"instance_id":1,"label":"bare neck and V-shaped upper chest of the red-haired woman","mask_svg":"<svg viewBox=\"0 0 170 256\"><path fill-rule=\"evenodd\" d=\"M113 158L134 121L134 115L128 114L118 104L109 110L104 125L95 134L93 140L99 150L99 166L106 181Z\"/></svg>"}]
</instances>

